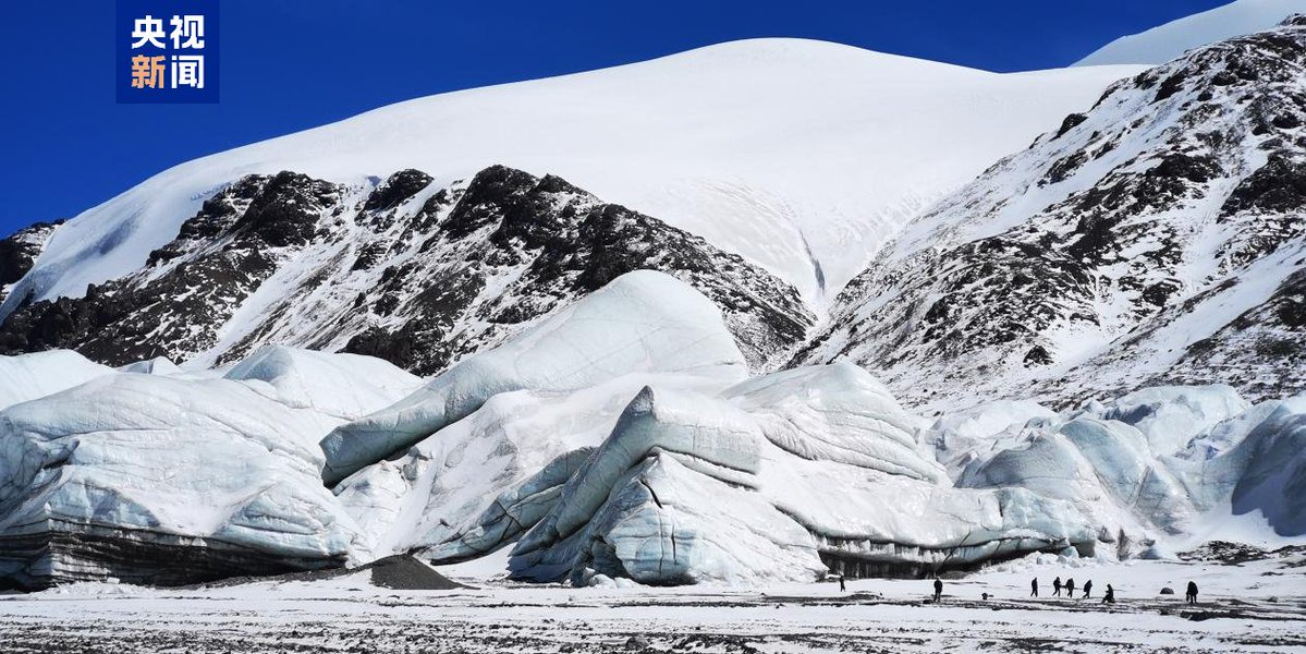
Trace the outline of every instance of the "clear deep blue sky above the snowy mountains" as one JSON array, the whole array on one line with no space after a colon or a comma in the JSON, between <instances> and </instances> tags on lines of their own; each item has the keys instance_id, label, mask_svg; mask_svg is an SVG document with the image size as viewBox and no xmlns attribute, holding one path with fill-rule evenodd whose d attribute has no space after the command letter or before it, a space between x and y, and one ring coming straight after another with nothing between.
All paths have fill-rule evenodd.
<instances>
[{"instance_id":1,"label":"clear deep blue sky above the snowy mountains","mask_svg":"<svg viewBox=\"0 0 1306 654\"><path fill-rule=\"evenodd\" d=\"M991 71L1066 65L1222 0L222 0L218 105L116 105L112 0L0 9L0 235L175 164L392 102L804 37Z\"/></svg>"}]
</instances>

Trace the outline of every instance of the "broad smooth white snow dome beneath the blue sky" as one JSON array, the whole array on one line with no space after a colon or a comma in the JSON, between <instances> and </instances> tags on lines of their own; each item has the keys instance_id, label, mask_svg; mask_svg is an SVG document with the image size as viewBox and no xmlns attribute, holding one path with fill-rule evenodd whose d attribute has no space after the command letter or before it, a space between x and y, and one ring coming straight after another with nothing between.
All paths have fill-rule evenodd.
<instances>
[{"instance_id":1,"label":"broad smooth white snow dome beneath the blue sky","mask_svg":"<svg viewBox=\"0 0 1306 654\"><path fill-rule=\"evenodd\" d=\"M558 174L744 255L819 306L925 205L1138 68L996 75L835 43L756 39L432 95L163 171L61 226L17 298L136 271L251 173L337 183L491 164Z\"/></svg>"}]
</instances>

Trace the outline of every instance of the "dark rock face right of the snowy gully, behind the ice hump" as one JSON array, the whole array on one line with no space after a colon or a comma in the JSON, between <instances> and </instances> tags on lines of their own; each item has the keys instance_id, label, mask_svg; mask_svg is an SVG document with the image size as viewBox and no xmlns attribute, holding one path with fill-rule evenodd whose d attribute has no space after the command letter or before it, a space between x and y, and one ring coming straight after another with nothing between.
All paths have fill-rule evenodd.
<instances>
[{"instance_id":1,"label":"dark rock face right of the snowy gully, behind the ice hump","mask_svg":"<svg viewBox=\"0 0 1306 654\"><path fill-rule=\"evenodd\" d=\"M432 203L423 209L440 211ZM674 275L712 298L754 365L790 349L811 324L797 292L739 256L656 218L602 204L559 178L537 179L503 166L466 186L421 250L427 256L388 268L371 294L372 311L401 318L388 320L397 324L379 320L383 324L350 339L345 351L432 374L644 268ZM469 330L469 322L479 324Z\"/></svg>"}]
</instances>

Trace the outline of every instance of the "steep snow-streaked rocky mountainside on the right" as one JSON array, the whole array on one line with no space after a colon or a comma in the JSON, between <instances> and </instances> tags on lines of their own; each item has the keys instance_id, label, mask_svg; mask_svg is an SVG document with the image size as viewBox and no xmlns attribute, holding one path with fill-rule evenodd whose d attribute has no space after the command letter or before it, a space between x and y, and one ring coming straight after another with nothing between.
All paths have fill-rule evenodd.
<instances>
[{"instance_id":1,"label":"steep snow-streaked rocky mountainside on the right","mask_svg":"<svg viewBox=\"0 0 1306 654\"><path fill-rule=\"evenodd\" d=\"M850 356L940 405L1306 388L1303 68L1290 25L1118 82L919 218L794 362Z\"/></svg>"}]
</instances>

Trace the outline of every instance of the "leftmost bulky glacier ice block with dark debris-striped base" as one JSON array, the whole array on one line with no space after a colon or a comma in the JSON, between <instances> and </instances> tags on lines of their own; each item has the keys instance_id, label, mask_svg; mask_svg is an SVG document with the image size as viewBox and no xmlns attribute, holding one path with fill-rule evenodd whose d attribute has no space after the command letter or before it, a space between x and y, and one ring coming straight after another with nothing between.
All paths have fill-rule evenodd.
<instances>
[{"instance_id":1,"label":"leftmost bulky glacier ice block with dark debris-striped base","mask_svg":"<svg viewBox=\"0 0 1306 654\"><path fill-rule=\"evenodd\" d=\"M332 419L225 379L111 374L0 413L0 577L175 585L342 565Z\"/></svg>"}]
</instances>

